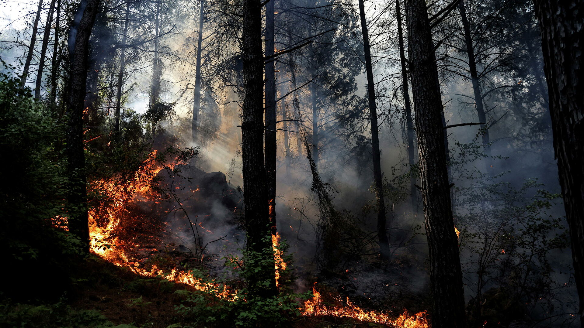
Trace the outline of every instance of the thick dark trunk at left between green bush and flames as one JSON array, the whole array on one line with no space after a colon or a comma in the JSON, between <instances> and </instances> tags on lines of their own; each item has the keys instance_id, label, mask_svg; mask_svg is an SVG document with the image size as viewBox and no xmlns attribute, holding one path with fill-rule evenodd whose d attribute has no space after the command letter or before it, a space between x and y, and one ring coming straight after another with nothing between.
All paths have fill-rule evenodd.
<instances>
[{"instance_id":1,"label":"thick dark trunk at left between green bush and flames","mask_svg":"<svg viewBox=\"0 0 584 328\"><path fill-rule=\"evenodd\" d=\"M68 114L67 146L69 196L69 231L81 239L89 253L87 188L85 185L85 155L83 145L83 111L88 71L89 36L98 13L99 0L81 2L69 32L69 88L65 109Z\"/></svg>"}]
</instances>

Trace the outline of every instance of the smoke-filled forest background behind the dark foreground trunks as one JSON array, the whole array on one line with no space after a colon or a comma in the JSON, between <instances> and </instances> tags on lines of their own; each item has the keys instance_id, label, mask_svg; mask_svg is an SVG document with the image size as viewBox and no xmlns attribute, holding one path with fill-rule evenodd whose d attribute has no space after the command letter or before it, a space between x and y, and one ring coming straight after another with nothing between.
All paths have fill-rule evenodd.
<instances>
[{"instance_id":1,"label":"smoke-filled forest background behind the dark foreground trunks","mask_svg":"<svg viewBox=\"0 0 584 328\"><path fill-rule=\"evenodd\" d=\"M430 15L447 4L428 2ZM78 5L2 3L0 55L8 65L2 72L26 72L25 85L57 121L65 115L69 27ZM412 91L404 88L402 71L402 60L408 69L408 31L404 4L399 21L396 5L365 3L389 258L379 254L357 2L274 4L274 48L286 51L274 60L275 212L277 231L293 254L294 291L316 281L366 308L417 312L429 308L429 268L415 114L406 102ZM433 26L433 41L469 322L577 326L533 2L465 0L461 8ZM170 252L180 265L202 263L221 275L225 257L241 256L245 248L241 10L239 1L227 0L110 0L98 12L84 114L89 183L99 190L146 160L137 155L135 163L126 162L111 142L134 153L157 149L171 161L179 154L172 147L190 149L185 160L152 174L157 196L128 205L128 213L158 222L164 232L134 251L149 261ZM114 169L108 158L128 166ZM95 199L90 212L103 228L113 212ZM145 219L140 229L154 221ZM116 238L142 231L124 229ZM152 251L145 255L145 249Z\"/></svg>"}]
</instances>

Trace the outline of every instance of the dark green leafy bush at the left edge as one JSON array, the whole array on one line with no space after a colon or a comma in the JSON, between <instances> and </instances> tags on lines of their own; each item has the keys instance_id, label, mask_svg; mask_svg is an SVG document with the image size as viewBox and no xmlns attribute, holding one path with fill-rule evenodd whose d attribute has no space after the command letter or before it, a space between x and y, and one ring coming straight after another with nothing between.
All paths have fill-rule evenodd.
<instances>
[{"instance_id":1,"label":"dark green leafy bush at the left edge","mask_svg":"<svg viewBox=\"0 0 584 328\"><path fill-rule=\"evenodd\" d=\"M47 294L58 288L58 282L66 282L67 263L80 254L79 240L54 227L67 216L63 135L62 125L32 100L30 89L21 88L11 75L0 74L0 240L7 255L3 264L19 268L12 285L50 281L44 289ZM39 267L45 272L40 277ZM2 294L12 292L5 288Z\"/></svg>"}]
</instances>

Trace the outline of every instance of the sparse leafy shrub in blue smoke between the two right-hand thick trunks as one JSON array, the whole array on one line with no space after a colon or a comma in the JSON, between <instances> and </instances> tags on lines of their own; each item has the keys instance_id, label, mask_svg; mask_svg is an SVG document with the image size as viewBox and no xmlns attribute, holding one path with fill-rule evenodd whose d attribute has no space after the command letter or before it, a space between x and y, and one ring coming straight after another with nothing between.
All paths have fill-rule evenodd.
<instances>
[{"instance_id":1,"label":"sparse leafy shrub in blue smoke between the two right-hand thick trunks","mask_svg":"<svg viewBox=\"0 0 584 328\"><path fill-rule=\"evenodd\" d=\"M564 219L552 214L560 195L543 190L536 179L516 187L501 181L506 173L488 178L469 169L470 161L483 157L482 145L457 145L454 171L465 180L454 187L453 203L471 322L505 323L552 312L563 284L551 256L569 247Z\"/></svg>"}]
</instances>

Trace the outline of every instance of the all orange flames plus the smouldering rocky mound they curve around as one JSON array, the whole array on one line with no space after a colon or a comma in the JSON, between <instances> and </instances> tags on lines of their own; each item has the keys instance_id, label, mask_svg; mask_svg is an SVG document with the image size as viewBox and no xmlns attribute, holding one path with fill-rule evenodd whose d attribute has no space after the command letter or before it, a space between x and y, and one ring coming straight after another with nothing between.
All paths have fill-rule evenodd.
<instances>
[{"instance_id":1,"label":"all orange flames plus the smouldering rocky mound they curve around","mask_svg":"<svg viewBox=\"0 0 584 328\"><path fill-rule=\"evenodd\" d=\"M221 271L230 259L237 261L238 256L230 254L241 249L240 236L245 236L238 224L243 215L241 189L225 182L223 173L205 173L189 156L174 155L152 152L133 176L92 183L92 192L102 200L89 216L92 251L135 274L187 284L217 299L245 297L237 290L241 284L230 284ZM274 274L279 278L287 263L280 236L273 236L272 242ZM203 273L207 276L201 277ZM303 316L428 326L425 312L369 311L331 289L314 288L313 293L298 309Z\"/></svg>"}]
</instances>

